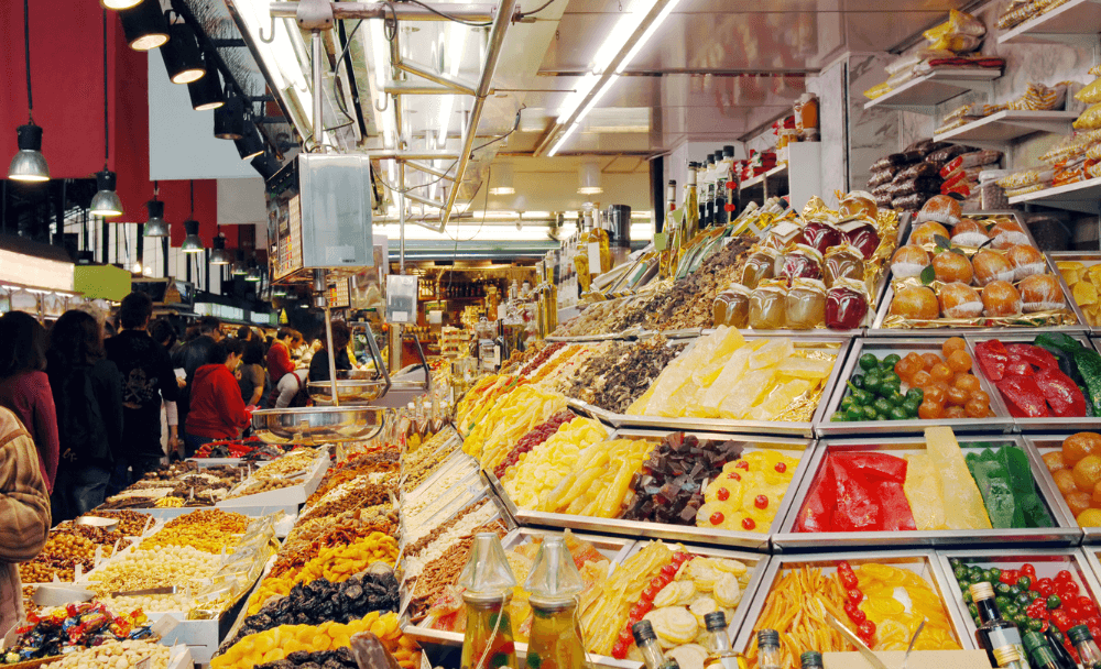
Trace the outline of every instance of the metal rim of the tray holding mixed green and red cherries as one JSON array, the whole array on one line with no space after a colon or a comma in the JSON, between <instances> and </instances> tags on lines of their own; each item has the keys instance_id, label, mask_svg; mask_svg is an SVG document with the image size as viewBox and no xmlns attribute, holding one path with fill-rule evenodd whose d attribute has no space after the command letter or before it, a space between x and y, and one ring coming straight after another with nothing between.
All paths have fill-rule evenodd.
<instances>
[{"instance_id":1,"label":"metal rim of the tray holding mixed green and red cherries","mask_svg":"<svg viewBox=\"0 0 1101 669\"><path fill-rule=\"evenodd\" d=\"M995 548L989 550L938 550L937 559L945 578L950 581L947 590L951 593L956 616L963 622L969 639L974 638L974 621L968 613L963 602L963 591L952 573L950 560L973 560L980 566L998 567L999 569L1020 569L1025 562L1036 568L1036 578L1055 579L1055 574L1067 570L1073 577L1087 596L1094 603L1101 602L1101 582L1093 571L1081 548L1044 549L1044 548Z\"/></svg>"}]
</instances>

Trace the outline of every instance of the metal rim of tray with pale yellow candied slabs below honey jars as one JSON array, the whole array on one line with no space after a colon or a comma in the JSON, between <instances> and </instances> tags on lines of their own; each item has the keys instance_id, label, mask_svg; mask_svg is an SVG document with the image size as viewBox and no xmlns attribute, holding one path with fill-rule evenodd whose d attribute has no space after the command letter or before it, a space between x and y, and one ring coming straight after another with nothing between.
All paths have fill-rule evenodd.
<instances>
[{"instance_id":1,"label":"metal rim of tray with pale yellow candied slabs below honey jars","mask_svg":"<svg viewBox=\"0 0 1101 669\"><path fill-rule=\"evenodd\" d=\"M749 331L746 331L749 332ZM745 339L761 339L761 334L744 333ZM771 339L765 337L765 339ZM826 415L826 406L829 404L829 395L841 374L844 366L846 357L852 347L851 337L832 337L820 334L817 337L793 338L796 348L826 350L837 354L833 368L826 379L826 390L818 402L810 420L781 421L781 420L731 420L724 418L666 418L662 416L628 416L623 414L614 415L610 418L611 425L622 429L648 429L665 431L701 431L701 432L723 432L727 435L777 435L786 437L813 438L815 426L822 421ZM837 347L837 348L831 348ZM682 351L684 355L687 352Z\"/></svg>"}]
</instances>

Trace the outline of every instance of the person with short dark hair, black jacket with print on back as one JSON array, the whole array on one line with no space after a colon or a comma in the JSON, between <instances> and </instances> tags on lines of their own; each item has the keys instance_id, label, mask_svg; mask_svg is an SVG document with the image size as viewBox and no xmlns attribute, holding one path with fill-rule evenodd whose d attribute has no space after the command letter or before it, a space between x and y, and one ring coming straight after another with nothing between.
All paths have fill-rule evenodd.
<instances>
[{"instance_id":1,"label":"person with short dark hair, black jacket with print on back","mask_svg":"<svg viewBox=\"0 0 1101 669\"><path fill-rule=\"evenodd\" d=\"M122 374L122 447L116 453L108 493L127 487L161 463L161 403L175 402L176 375L168 352L146 332L153 301L131 293L119 307L122 331L107 340L107 359Z\"/></svg>"}]
</instances>

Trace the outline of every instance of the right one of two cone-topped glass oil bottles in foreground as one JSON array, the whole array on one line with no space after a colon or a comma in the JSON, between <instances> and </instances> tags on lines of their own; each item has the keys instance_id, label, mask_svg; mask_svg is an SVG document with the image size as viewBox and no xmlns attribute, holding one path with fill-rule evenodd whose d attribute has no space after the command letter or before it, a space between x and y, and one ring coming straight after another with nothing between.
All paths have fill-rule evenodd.
<instances>
[{"instance_id":1,"label":"right one of two cone-topped glass oil bottles in foreground","mask_svg":"<svg viewBox=\"0 0 1101 669\"><path fill-rule=\"evenodd\" d=\"M581 574L563 537L546 537L524 582L531 594L532 632L527 669L582 669L585 643L577 617Z\"/></svg>"}]
</instances>

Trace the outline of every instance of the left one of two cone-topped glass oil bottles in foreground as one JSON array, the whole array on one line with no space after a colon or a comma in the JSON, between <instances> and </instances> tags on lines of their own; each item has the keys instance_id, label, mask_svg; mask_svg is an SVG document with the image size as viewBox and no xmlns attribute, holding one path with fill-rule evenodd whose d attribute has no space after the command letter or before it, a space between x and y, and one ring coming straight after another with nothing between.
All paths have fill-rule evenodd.
<instances>
[{"instance_id":1,"label":"left one of two cone-topped glass oil bottles in foreground","mask_svg":"<svg viewBox=\"0 0 1101 669\"><path fill-rule=\"evenodd\" d=\"M475 536L459 586L465 588L467 629L462 637L461 669L516 667L509 602L516 578L495 534Z\"/></svg>"}]
</instances>

